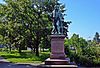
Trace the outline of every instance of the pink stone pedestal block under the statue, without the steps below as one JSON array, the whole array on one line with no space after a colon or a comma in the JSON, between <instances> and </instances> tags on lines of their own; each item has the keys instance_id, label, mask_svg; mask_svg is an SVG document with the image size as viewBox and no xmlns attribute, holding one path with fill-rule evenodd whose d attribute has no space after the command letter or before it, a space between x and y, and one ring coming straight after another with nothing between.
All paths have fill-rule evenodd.
<instances>
[{"instance_id":1,"label":"pink stone pedestal block under the statue, without the steps below","mask_svg":"<svg viewBox=\"0 0 100 68\"><path fill-rule=\"evenodd\" d=\"M51 35L51 59L65 59L64 35Z\"/></svg>"}]
</instances>

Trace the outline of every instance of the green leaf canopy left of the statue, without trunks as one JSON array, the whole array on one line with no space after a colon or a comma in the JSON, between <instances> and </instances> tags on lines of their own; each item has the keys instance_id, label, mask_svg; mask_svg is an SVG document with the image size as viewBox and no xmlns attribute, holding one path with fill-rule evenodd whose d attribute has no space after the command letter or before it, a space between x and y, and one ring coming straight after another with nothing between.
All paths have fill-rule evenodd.
<instances>
[{"instance_id":1,"label":"green leaf canopy left of the statue, without trunks","mask_svg":"<svg viewBox=\"0 0 100 68\"><path fill-rule=\"evenodd\" d=\"M48 14L42 7L37 5L37 8L32 8L32 0L5 0L5 2L6 4L0 5L0 35L3 37L2 40L6 40L4 44L26 47L28 44L32 45L29 41L41 41L45 33L43 30L50 27ZM38 46L37 43L34 45Z\"/></svg>"}]
</instances>

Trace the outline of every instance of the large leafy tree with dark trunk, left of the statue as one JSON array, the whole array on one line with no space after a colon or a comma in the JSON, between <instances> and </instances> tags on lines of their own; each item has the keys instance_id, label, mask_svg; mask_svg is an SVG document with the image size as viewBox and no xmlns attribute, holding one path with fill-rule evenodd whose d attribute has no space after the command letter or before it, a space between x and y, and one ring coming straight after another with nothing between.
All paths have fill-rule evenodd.
<instances>
[{"instance_id":1,"label":"large leafy tree with dark trunk, left of the statue","mask_svg":"<svg viewBox=\"0 0 100 68\"><path fill-rule=\"evenodd\" d=\"M39 56L39 45L51 32L50 14L55 1L46 0L43 6L33 0L5 0L5 3L0 5L0 18L5 26L1 35L9 39L10 50L15 46L21 52L23 46L28 46ZM48 32L44 32L46 29Z\"/></svg>"}]
</instances>

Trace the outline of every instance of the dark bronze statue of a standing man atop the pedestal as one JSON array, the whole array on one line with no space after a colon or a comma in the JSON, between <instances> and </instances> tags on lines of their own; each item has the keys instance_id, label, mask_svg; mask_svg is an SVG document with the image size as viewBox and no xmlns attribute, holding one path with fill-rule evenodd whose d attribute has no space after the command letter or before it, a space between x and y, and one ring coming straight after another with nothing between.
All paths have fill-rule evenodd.
<instances>
[{"instance_id":1,"label":"dark bronze statue of a standing man atop the pedestal","mask_svg":"<svg viewBox=\"0 0 100 68\"><path fill-rule=\"evenodd\" d=\"M60 5L55 5L55 9L53 10L53 30L52 34L62 34L63 29L62 27L62 18L63 15L60 11Z\"/></svg>"}]
</instances>

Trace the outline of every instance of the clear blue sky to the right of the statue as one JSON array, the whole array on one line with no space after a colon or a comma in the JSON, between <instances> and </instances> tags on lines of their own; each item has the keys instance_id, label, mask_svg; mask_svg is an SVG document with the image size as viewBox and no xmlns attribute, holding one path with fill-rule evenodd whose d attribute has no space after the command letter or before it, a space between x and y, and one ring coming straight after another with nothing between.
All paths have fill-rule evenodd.
<instances>
[{"instance_id":1,"label":"clear blue sky to the right of the statue","mask_svg":"<svg viewBox=\"0 0 100 68\"><path fill-rule=\"evenodd\" d=\"M87 40L100 33L100 0L60 0L65 4L66 21L72 21L68 37L74 33ZM3 3L3 0L0 0Z\"/></svg>"}]
</instances>

